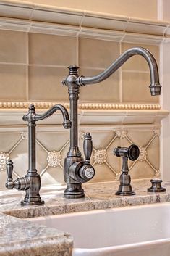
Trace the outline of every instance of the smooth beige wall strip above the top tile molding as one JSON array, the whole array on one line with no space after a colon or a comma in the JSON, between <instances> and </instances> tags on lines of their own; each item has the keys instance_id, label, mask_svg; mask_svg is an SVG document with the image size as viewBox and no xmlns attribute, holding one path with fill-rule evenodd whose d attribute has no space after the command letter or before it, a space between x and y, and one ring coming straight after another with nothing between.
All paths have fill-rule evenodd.
<instances>
[{"instance_id":1,"label":"smooth beige wall strip above the top tile molding","mask_svg":"<svg viewBox=\"0 0 170 256\"><path fill-rule=\"evenodd\" d=\"M34 0L34 2L38 4L48 4L58 7L85 9L94 12L108 12L116 15L128 15L133 17L157 19L156 0Z\"/></svg>"}]
</instances>

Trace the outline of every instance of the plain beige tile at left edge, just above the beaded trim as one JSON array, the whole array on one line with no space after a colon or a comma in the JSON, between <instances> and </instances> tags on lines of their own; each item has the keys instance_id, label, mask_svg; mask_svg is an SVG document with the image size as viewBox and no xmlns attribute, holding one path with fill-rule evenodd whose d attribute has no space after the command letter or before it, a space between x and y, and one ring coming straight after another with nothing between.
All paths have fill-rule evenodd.
<instances>
[{"instance_id":1,"label":"plain beige tile at left edge, just above the beaded trim","mask_svg":"<svg viewBox=\"0 0 170 256\"><path fill-rule=\"evenodd\" d=\"M26 66L0 65L0 100L26 100Z\"/></svg>"}]
</instances>

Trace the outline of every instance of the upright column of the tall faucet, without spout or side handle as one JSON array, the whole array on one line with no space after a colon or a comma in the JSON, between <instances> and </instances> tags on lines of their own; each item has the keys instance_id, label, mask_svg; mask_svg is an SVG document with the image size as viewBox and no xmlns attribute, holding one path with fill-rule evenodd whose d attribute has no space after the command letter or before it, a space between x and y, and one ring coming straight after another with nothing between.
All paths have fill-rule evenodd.
<instances>
[{"instance_id":1,"label":"upright column of the tall faucet, without spout or side handle","mask_svg":"<svg viewBox=\"0 0 170 256\"><path fill-rule=\"evenodd\" d=\"M83 161L82 154L78 148L78 99L79 99L79 85L75 83L78 77L77 66L69 67L69 75L64 79L63 84L69 88L69 104L70 104L70 120L72 127L70 129L70 147L67 157L64 160L64 181L67 183L67 188L64 191L66 198L80 198L85 197L82 183L75 181L69 176L69 167L75 162Z\"/></svg>"}]
</instances>

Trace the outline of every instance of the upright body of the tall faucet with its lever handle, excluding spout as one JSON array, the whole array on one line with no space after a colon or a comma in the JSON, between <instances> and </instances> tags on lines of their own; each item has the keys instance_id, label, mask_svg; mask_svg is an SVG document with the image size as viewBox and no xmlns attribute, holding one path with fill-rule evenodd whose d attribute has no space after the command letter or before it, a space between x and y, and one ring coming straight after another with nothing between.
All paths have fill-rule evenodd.
<instances>
[{"instance_id":1,"label":"upright body of the tall faucet with its lever handle, excluding spout","mask_svg":"<svg viewBox=\"0 0 170 256\"><path fill-rule=\"evenodd\" d=\"M70 129L70 146L67 157L64 161L64 181L67 183L67 189L64 191L66 198L85 197L85 192L82 189L82 183L93 178L95 170L90 165L90 156L93 150L92 138L90 133L86 133L84 141L85 160L82 158L78 147L78 132L77 132L77 116L79 99L79 85L75 83L78 77L77 66L69 67L69 75L64 80L63 84L69 88L70 101L70 120L72 127Z\"/></svg>"}]
</instances>

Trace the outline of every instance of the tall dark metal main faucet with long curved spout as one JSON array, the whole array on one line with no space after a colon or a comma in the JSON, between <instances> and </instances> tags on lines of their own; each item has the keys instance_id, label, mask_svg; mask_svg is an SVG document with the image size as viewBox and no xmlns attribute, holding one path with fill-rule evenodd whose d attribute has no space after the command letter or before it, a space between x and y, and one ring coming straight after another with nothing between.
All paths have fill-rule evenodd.
<instances>
[{"instance_id":1,"label":"tall dark metal main faucet with long curved spout","mask_svg":"<svg viewBox=\"0 0 170 256\"><path fill-rule=\"evenodd\" d=\"M77 102L79 99L79 87L85 86L93 83L100 83L103 80L109 78L111 74L113 74L119 67L121 67L124 62L127 61L130 57L134 55L141 55L148 62L148 66L150 69L150 94L152 96L161 94L161 85L159 83L158 76L158 67L156 64L156 59L153 57L153 54L150 53L147 49L142 47L135 47L124 51L119 58L117 58L106 70L98 75L92 77L84 77L78 75L77 66L69 66L69 75L67 78L63 80L63 85L69 88L69 101L70 101L70 120L72 122L72 128L70 130L70 147L69 152L67 153L67 157L64 161L64 180L67 183L67 189L64 191L64 197L67 198L79 198L85 197L84 190L82 189L82 183L89 181L90 178L94 176L94 169L90 165L90 157L88 161L88 176L82 177L80 173L80 168L87 164L86 160L84 161L82 158L82 154L78 148L78 139L77 139ZM88 136L90 134L88 133ZM91 141L91 139L89 139ZM86 148L87 147L87 148ZM90 151L92 150L92 142L89 144L85 143L85 151L88 152L88 148ZM79 164L81 162L81 165ZM72 171L71 171L72 170Z\"/></svg>"}]
</instances>

